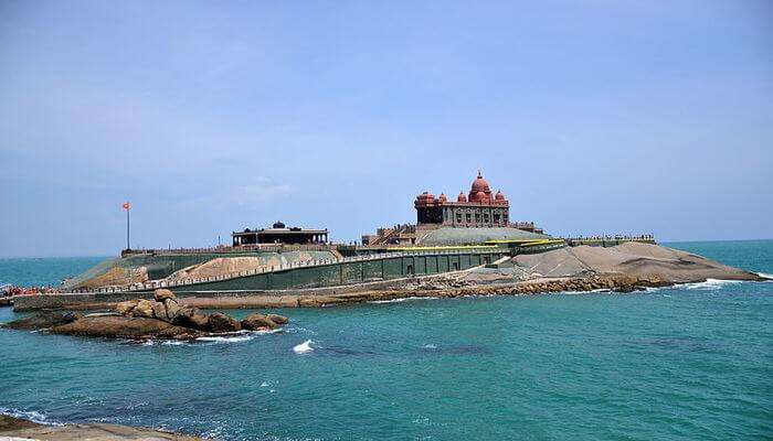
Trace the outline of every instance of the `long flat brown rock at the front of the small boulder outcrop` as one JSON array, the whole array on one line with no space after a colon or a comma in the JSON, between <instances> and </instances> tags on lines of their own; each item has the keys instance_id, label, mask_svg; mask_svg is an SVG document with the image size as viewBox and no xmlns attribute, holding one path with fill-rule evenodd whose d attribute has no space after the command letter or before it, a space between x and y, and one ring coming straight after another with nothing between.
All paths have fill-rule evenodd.
<instances>
[{"instance_id":1,"label":"long flat brown rock at the front of the small boulder outcrop","mask_svg":"<svg viewBox=\"0 0 773 441\"><path fill-rule=\"evenodd\" d=\"M127 318L121 315L89 316L72 323L54 326L51 332L95 337L123 338L195 338L202 335L197 330L176 326L171 323L148 319Z\"/></svg>"}]
</instances>

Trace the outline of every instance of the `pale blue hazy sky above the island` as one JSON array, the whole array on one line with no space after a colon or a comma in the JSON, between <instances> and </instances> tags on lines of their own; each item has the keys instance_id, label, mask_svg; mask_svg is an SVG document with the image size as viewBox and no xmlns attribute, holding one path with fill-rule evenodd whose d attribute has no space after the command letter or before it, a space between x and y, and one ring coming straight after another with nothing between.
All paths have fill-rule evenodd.
<instances>
[{"instance_id":1,"label":"pale blue hazy sky above the island","mask_svg":"<svg viewBox=\"0 0 773 441\"><path fill-rule=\"evenodd\" d=\"M553 235L773 238L770 1L0 1L0 256L337 241L478 170ZM220 239L219 239L220 237Z\"/></svg>"}]
</instances>

